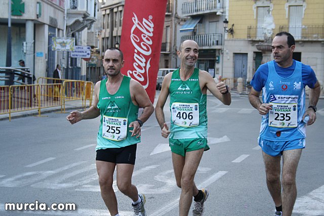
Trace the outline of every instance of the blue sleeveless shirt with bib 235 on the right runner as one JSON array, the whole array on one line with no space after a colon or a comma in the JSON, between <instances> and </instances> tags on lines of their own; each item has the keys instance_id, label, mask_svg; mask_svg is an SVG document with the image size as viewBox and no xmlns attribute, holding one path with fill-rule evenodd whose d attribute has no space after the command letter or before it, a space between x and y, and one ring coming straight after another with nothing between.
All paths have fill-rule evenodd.
<instances>
[{"instance_id":1,"label":"blue sleeveless shirt with bib 235 on the right runner","mask_svg":"<svg viewBox=\"0 0 324 216\"><path fill-rule=\"evenodd\" d=\"M264 103L272 104L272 110L262 116L260 137L271 141L288 141L306 137L306 125L302 121L305 112L305 88L302 80L302 63L289 77L281 77L275 70L275 62L267 63L269 74L262 88Z\"/></svg>"}]
</instances>

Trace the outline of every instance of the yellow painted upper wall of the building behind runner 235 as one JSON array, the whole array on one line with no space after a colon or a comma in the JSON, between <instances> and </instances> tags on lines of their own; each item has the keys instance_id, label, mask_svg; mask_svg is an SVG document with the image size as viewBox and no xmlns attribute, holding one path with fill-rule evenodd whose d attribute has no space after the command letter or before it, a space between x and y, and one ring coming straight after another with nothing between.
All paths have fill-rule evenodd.
<instances>
[{"instance_id":1,"label":"yellow painted upper wall of the building behind runner 235","mask_svg":"<svg viewBox=\"0 0 324 216\"><path fill-rule=\"evenodd\" d=\"M289 25L289 18L286 18L286 3L287 1L283 0L271 1L273 5L272 16L275 23L274 34L279 31L280 25ZM324 25L324 0L306 0L305 3L306 10L302 24ZM228 28L234 23L234 38L247 38L248 26L257 26L257 18L254 18L254 4L254 0L229 0Z\"/></svg>"}]
</instances>

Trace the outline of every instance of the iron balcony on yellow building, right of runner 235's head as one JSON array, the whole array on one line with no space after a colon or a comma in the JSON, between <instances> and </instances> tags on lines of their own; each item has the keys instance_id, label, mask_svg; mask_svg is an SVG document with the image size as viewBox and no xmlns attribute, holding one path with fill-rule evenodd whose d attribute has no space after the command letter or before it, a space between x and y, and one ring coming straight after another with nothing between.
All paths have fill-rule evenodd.
<instances>
[{"instance_id":1,"label":"iron balcony on yellow building, right of runner 235's head","mask_svg":"<svg viewBox=\"0 0 324 216\"><path fill-rule=\"evenodd\" d=\"M291 33L295 40L324 40L324 25L279 26L280 31Z\"/></svg>"}]
</instances>

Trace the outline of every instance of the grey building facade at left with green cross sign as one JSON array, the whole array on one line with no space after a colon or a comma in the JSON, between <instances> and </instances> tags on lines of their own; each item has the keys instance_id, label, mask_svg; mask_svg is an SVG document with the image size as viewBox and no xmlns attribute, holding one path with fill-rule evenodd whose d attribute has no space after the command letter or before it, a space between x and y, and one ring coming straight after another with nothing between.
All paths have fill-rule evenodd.
<instances>
[{"instance_id":1,"label":"grey building facade at left with green cross sign","mask_svg":"<svg viewBox=\"0 0 324 216\"><path fill-rule=\"evenodd\" d=\"M9 15L11 19L12 67L22 59L38 78L53 77L60 64L66 69L62 78L85 79L86 63L67 52L53 51L52 38L74 37L75 45L86 46L87 29L96 21L97 0L2 1L0 6L0 31L6 32L0 37L0 48L5 53ZM6 55L0 55L0 66L6 66Z\"/></svg>"}]
</instances>

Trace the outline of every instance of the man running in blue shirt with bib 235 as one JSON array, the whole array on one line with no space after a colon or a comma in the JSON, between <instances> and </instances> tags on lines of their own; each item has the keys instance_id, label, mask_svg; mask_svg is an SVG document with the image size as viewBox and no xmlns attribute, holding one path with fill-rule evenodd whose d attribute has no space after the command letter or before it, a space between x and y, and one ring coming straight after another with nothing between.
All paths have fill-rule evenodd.
<instances>
[{"instance_id":1,"label":"man running in blue shirt with bib 235","mask_svg":"<svg viewBox=\"0 0 324 216\"><path fill-rule=\"evenodd\" d=\"M304 119L306 116L309 118L307 125L315 122L320 94L314 71L310 66L293 60L294 50L294 37L288 32L277 33L272 41L274 60L258 68L249 95L250 103L262 115L258 142L262 148L267 186L276 208L275 215L284 216L292 214L297 196L296 170L306 138ZM306 85L310 88L308 107L305 104ZM263 103L259 98L261 90Z\"/></svg>"}]
</instances>

